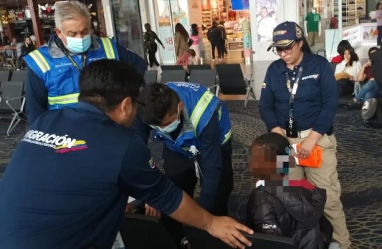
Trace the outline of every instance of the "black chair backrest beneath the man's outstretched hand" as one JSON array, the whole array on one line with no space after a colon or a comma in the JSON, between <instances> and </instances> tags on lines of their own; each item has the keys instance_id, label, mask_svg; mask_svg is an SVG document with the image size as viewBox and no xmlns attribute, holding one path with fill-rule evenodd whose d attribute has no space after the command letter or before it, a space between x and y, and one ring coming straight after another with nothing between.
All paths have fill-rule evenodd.
<instances>
[{"instance_id":1,"label":"black chair backrest beneath the man's outstretched hand","mask_svg":"<svg viewBox=\"0 0 382 249\"><path fill-rule=\"evenodd\" d=\"M224 242L211 236L206 231L189 226L183 226L183 229L192 249L230 248ZM252 247L250 247L251 249L297 249L294 244L294 240L291 238L259 233L255 233L253 235L245 234L245 237L252 242Z\"/></svg>"}]
</instances>

